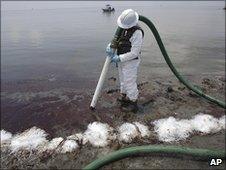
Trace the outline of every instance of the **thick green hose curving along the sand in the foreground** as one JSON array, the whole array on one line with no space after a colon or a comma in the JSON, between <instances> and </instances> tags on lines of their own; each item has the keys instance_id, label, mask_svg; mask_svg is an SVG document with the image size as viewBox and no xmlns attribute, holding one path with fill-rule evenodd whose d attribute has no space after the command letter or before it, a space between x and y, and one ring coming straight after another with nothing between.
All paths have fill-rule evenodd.
<instances>
[{"instance_id":1,"label":"thick green hose curving along the sand in the foreground","mask_svg":"<svg viewBox=\"0 0 226 170\"><path fill-rule=\"evenodd\" d=\"M84 169L98 169L108 163L133 156L138 154L150 154L150 153L161 153L161 154L184 154L197 158L201 158L202 160L210 160L211 158L221 158L225 159L224 151L215 151L208 149L193 149L187 147L178 147L178 146L161 146L161 145L148 145L148 146L136 146L125 149L120 149L118 151L112 152L109 155L105 155L102 158L99 158L89 165L87 165Z\"/></svg>"}]
</instances>

